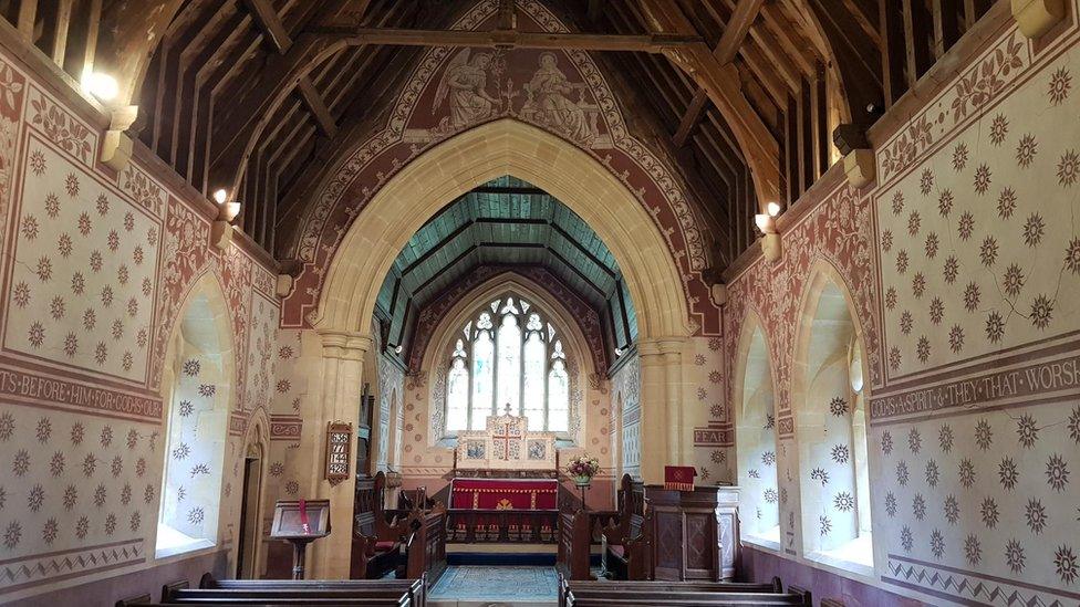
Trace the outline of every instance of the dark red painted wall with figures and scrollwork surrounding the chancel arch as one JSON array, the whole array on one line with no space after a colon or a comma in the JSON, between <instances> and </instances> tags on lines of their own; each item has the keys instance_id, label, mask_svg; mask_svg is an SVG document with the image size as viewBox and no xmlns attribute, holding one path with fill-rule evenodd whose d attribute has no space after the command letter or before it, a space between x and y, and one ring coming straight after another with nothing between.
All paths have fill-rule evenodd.
<instances>
[{"instance_id":1,"label":"dark red painted wall with figures and scrollwork surrounding the chancel arch","mask_svg":"<svg viewBox=\"0 0 1080 607\"><path fill-rule=\"evenodd\" d=\"M498 2L481 0L455 29L488 27ZM522 29L565 32L537 0L518 2ZM719 334L700 271L708 264L698 220L672 171L629 132L622 111L589 53L518 49L429 50L404 86L385 128L332 172L302 220L295 255L305 271L284 304L284 324L307 326L325 268L353 219L403 166L433 145L478 124L513 117L544 128L606 165L650 211L679 266L698 334Z\"/></svg>"}]
</instances>

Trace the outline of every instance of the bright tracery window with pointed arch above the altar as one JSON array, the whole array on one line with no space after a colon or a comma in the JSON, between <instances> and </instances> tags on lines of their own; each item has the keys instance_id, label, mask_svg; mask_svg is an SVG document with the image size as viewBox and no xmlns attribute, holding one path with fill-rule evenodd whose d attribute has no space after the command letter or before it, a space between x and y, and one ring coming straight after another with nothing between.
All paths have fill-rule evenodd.
<instances>
[{"instance_id":1,"label":"bright tracery window with pointed arch above the altar","mask_svg":"<svg viewBox=\"0 0 1080 607\"><path fill-rule=\"evenodd\" d=\"M529 418L530 430L570 427L570 375L560 333L546 315L513 295L479 310L454 343L446 378L446 431L482 429L506 411Z\"/></svg>"}]
</instances>

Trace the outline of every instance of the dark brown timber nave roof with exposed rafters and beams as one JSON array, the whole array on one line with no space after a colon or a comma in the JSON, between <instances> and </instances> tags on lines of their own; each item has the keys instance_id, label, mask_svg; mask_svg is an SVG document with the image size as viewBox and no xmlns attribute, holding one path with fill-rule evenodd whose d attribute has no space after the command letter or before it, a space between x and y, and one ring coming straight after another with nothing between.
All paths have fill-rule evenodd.
<instances>
[{"instance_id":1,"label":"dark brown timber nave roof with exposed rafters and beams","mask_svg":"<svg viewBox=\"0 0 1080 607\"><path fill-rule=\"evenodd\" d=\"M279 260L328 167L386 118L430 45L543 45L498 0L494 30L447 28L478 0L0 0L74 77L117 77L142 143ZM924 75L991 0L542 0L591 50L631 127L676 169L713 269ZM998 8L997 10L1003 10ZM6 25L7 27L7 25ZM455 38L456 36L456 38ZM324 52L325 51L325 52ZM620 52L621 51L621 52Z\"/></svg>"}]
</instances>

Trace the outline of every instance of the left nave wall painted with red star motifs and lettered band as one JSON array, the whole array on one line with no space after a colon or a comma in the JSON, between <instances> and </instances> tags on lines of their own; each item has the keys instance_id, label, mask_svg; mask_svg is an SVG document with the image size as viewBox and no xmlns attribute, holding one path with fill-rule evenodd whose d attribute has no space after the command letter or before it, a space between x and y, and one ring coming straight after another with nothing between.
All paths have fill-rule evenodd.
<instances>
[{"instance_id":1,"label":"left nave wall painted with red star motifs and lettered band","mask_svg":"<svg viewBox=\"0 0 1080 607\"><path fill-rule=\"evenodd\" d=\"M98 166L91 109L48 81L0 52L0 601L155 566L174 406L159 394L166 349L208 273L228 300L236 357L215 384L247 386L221 419L225 459L207 462L221 479L212 538L231 544L239 443L273 373L242 363L276 339L280 314L274 270L242 243L210 248L209 203L184 201L137 158L120 174Z\"/></svg>"}]
</instances>

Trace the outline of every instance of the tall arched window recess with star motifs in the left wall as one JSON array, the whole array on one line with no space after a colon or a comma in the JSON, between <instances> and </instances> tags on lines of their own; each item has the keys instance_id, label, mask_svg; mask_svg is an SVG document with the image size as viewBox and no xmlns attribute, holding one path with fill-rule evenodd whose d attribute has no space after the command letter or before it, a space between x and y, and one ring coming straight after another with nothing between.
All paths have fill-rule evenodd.
<instances>
[{"instance_id":1,"label":"tall arched window recess with star motifs in the left wall","mask_svg":"<svg viewBox=\"0 0 1080 607\"><path fill-rule=\"evenodd\" d=\"M207 272L188 292L166 350L158 558L210 547L221 528L222 475L236 359L228 303Z\"/></svg>"}]
</instances>

